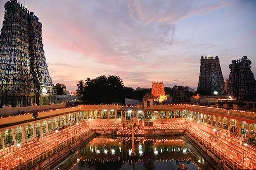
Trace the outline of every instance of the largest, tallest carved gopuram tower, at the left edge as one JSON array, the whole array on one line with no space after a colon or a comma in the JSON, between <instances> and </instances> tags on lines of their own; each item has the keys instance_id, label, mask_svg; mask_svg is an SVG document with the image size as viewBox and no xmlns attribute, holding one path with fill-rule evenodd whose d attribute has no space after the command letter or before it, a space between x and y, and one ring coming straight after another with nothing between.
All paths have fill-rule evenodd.
<instances>
[{"instance_id":1,"label":"largest, tallest carved gopuram tower, at the left edge","mask_svg":"<svg viewBox=\"0 0 256 170\"><path fill-rule=\"evenodd\" d=\"M5 3L0 35L0 106L45 105L54 100L38 17L17 0Z\"/></svg>"}]
</instances>

